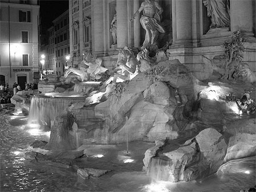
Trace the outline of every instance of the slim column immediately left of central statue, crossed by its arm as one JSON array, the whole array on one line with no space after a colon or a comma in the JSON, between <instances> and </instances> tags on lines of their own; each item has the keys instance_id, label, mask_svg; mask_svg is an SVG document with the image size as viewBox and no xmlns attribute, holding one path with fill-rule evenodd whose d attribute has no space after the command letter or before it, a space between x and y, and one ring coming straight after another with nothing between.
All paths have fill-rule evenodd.
<instances>
[{"instance_id":1,"label":"slim column immediately left of central statue, crossed by its arm","mask_svg":"<svg viewBox=\"0 0 256 192\"><path fill-rule=\"evenodd\" d=\"M134 12L139 9L139 0L134 0L133 10ZM139 16L137 16L134 21L134 47L140 47L141 45L141 22L139 22Z\"/></svg>"}]
</instances>

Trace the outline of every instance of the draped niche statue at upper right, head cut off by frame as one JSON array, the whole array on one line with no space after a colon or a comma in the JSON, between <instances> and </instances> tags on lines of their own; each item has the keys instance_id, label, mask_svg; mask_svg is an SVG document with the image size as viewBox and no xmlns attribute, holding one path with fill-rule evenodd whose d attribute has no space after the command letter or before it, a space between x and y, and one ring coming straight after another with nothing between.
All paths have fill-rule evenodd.
<instances>
[{"instance_id":1,"label":"draped niche statue at upper right, head cut off by frame","mask_svg":"<svg viewBox=\"0 0 256 192\"><path fill-rule=\"evenodd\" d=\"M212 24L210 28L220 28L230 26L230 9L228 0L203 0L207 7L207 16Z\"/></svg>"}]
</instances>

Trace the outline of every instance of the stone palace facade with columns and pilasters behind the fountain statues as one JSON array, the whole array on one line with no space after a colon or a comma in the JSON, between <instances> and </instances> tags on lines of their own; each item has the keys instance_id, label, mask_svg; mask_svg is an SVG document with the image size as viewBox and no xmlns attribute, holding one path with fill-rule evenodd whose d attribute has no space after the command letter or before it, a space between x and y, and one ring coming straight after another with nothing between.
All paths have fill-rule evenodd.
<instances>
[{"instance_id":1,"label":"stone palace facade with columns and pilasters behind the fountain statues","mask_svg":"<svg viewBox=\"0 0 256 192\"><path fill-rule=\"evenodd\" d=\"M133 19L143 0L69 0L69 31L71 58L79 63L82 53L89 51L93 57L102 57L105 66L113 66L117 49L125 46L142 47L145 39L140 18ZM214 66L209 64L224 54L223 44L234 31L245 34L243 61L255 73L255 1L221 0L230 18L228 26L214 28L207 5L201 0L155 0L163 8L159 48L168 44L168 58L179 59L200 80L207 79ZM217 4L216 4L217 5ZM218 9L218 6L212 9ZM222 12L222 11L220 11ZM114 42L112 23L116 20L117 42ZM208 61L206 61L208 60ZM216 59L217 60L217 59ZM211 65L211 66L210 66Z\"/></svg>"}]
</instances>

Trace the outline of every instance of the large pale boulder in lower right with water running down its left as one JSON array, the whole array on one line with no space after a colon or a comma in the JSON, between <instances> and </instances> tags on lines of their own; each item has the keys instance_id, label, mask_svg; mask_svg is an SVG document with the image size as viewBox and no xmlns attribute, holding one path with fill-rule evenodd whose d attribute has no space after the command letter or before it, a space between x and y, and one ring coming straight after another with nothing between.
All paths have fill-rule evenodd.
<instances>
[{"instance_id":1,"label":"large pale boulder in lower right with water running down its left","mask_svg":"<svg viewBox=\"0 0 256 192\"><path fill-rule=\"evenodd\" d=\"M214 128L201 131L175 151L160 156L167 163L160 168L164 173L158 178L163 181L191 181L217 172L222 165L227 145L224 137ZM161 164L159 162L159 164ZM154 166L154 165L153 165Z\"/></svg>"}]
</instances>

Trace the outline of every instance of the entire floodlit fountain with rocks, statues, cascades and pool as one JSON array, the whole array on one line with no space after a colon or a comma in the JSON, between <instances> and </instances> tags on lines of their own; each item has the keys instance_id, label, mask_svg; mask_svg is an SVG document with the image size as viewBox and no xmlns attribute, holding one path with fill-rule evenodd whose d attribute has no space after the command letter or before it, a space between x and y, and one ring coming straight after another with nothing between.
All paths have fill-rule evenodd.
<instances>
[{"instance_id":1,"label":"entire floodlit fountain with rocks, statues, cascades and pool","mask_svg":"<svg viewBox=\"0 0 256 192\"><path fill-rule=\"evenodd\" d=\"M223 2L202 3L209 37L229 31L231 13L210 12ZM138 8L141 47L116 48L112 67L84 52L1 105L1 191L255 191L255 37L229 31L196 70L177 41L161 46L158 1Z\"/></svg>"}]
</instances>

